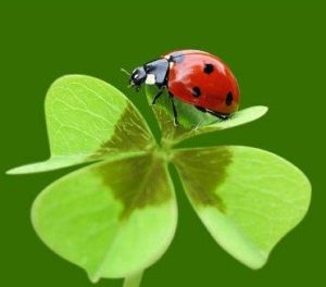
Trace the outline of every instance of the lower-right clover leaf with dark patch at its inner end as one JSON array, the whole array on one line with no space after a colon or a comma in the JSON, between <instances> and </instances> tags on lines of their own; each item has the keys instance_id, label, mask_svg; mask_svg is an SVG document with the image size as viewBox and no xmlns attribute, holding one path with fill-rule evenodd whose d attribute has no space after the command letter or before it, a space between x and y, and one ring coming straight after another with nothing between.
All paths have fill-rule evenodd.
<instances>
[{"instance_id":1,"label":"lower-right clover leaf with dark patch at its inner end","mask_svg":"<svg viewBox=\"0 0 326 287\"><path fill-rule=\"evenodd\" d=\"M186 194L213 238L259 269L304 216L311 185L288 161L248 147L178 150L174 162Z\"/></svg>"}]
</instances>

